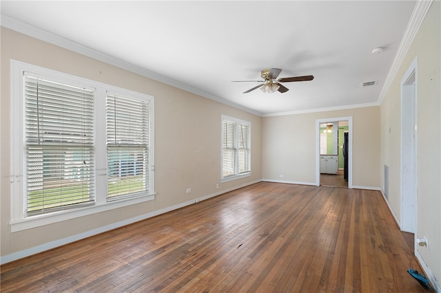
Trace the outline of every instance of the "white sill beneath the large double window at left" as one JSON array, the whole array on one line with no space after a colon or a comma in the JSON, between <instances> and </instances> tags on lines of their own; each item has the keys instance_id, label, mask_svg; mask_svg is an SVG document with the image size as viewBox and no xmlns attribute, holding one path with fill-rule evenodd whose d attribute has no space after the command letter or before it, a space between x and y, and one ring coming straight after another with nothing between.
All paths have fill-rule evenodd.
<instances>
[{"instance_id":1,"label":"white sill beneath the large double window at left","mask_svg":"<svg viewBox=\"0 0 441 293\"><path fill-rule=\"evenodd\" d=\"M114 210L115 208L121 208L123 206L131 206L132 204L149 202L150 200L153 199L154 199L154 194L151 194L143 197L134 197L119 201L105 202L104 204L95 204L94 206L87 206L84 208L61 210L59 212L50 213L50 214L35 215L32 217L26 217L25 219L10 221L10 228L11 228L11 232L19 232L26 229L58 223L60 221L66 221L78 217L84 217L87 215L93 215L96 213L105 212L106 210Z\"/></svg>"}]
</instances>

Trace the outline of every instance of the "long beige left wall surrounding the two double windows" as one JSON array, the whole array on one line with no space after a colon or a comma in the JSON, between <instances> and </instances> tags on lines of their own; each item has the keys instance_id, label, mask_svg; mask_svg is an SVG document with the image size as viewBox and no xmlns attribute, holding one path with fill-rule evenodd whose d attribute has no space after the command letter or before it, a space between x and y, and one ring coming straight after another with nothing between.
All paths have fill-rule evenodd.
<instances>
[{"instance_id":1,"label":"long beige left wall surrounding the two double windows","mask_svg":"<svg viewBox=\"0 0 441 293\"><path fill-rule=\"evenodd\" d=\"M31 49L32 48L32 52ZM154 201L10 232L10 60L154 96ZM20 97L16 97L20 98ZM1 256L259 181L260 117L1 28ZM252 176L220 183L221 115L252 123ZM216 188L219 184L219 188ZM187 188L192 193L187 194Z\"/></svg>"}]
</instances>

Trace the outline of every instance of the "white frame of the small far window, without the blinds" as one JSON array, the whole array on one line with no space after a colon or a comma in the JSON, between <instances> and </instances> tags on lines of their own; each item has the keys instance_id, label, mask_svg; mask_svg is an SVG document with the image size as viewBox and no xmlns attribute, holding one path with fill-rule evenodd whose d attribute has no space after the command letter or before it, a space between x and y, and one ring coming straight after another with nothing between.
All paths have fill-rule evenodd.
<instances>
[{"instance_id":1,"label":"white frame of the small far window, without the blinds","mask_svg":"<svg viewBox=\"0 0 441 293\"><path fill-rule=\"evenodd\" d=\"M234 148L235 148L235 164L234 164L234 174L233 175L228 175L228 176L223 176L223 157L224 157L224 149L223 149L223 139L224 139L224 132L223 132L223 124L224 121L229 121L229 122L233 122L236 125L236 138L234 141ZM249 171L245 172L245 173L239 173L238 169L239 169L239 151L238 151L238 135L239 135L239 125L245 125L247 127L249 127L249 136L248 136L248 162L249 162ZM229 182L232 180L238 180L240 178L244 178L244 177L249 177L251 176L252 173L252 168L251 168L251 153L252 153L252 125L251 122L246 121L246 120L242 120L242 119L238 119L238 118L233 118L230 116L226 116L226 115L222 115L221 116L221 123L220 123L220 182Z\"/></svg>"}]
</instances>

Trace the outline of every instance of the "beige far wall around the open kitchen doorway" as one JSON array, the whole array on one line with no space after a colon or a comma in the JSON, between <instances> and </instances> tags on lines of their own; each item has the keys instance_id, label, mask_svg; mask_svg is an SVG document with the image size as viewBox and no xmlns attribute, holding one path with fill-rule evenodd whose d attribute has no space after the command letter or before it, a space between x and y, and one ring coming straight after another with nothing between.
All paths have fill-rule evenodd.
<instances>
[{"instance_id":1,"label":"beige far wall around the open kitchen doorway","mask_svg":"<svg viewBox=\"0 0 441 293\"><path fill-rule=\"evenodd\" d=\"M316 120L349 116L353 120L352 184L380 188L380 107L264 117L263 179L315 184Z\"/></svg>"}]
</instances>

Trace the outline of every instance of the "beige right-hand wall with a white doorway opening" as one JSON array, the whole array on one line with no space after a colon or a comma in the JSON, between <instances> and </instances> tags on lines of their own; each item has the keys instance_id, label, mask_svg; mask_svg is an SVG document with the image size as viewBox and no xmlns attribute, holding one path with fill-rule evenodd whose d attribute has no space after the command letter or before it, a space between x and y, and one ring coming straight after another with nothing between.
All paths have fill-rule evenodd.
<instances>
[{"instance_id":1,"label":"beige right-hand wall with a white doorway opening","mask_svg":"<svg viewBox=\"0 0 441 293\"><path fill-rule=\"evenodd\" d=\"M381 162L389 166L389 206L400 219L400 83L412 61L418 72L417 233L429 250L417 246L422 261L441 280L441 2L433 1L380 111ZM391 127L391 133L385 129ZM384 180L382 179L382 186Z\"/></svg>"}]
</instances>

